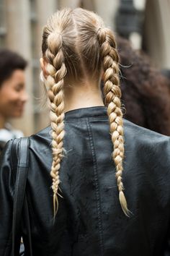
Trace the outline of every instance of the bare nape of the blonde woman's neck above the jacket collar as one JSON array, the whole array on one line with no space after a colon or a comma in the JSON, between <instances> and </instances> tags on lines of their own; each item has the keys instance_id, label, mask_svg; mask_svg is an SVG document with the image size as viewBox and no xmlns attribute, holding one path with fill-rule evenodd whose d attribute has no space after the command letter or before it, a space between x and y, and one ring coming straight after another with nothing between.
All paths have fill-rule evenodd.
<instances>
[{"instance_id":1,"label":"bare nape of the blonde woman's neck above the jacket collar","mask_svg":"<svg viewBox=\"0 0 170 256\"><path fill-rule=\"evenodd\" d=\"M77 108L104 106L99 85L95 83L72 83L64 88L65 112Z\"/></svg>"}]
</instances>

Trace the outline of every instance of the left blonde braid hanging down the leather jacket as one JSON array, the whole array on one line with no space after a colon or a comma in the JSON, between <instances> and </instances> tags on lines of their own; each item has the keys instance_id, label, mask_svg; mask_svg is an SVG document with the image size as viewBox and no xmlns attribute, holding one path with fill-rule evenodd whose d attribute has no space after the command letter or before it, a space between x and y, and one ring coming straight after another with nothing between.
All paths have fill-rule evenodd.
<instances>
[{"instance_id":1,"label":"left blonde braid hanging down the leather jacket","mask_svg":"<svg viewBox=\"0 0 170 256\"><path fill-rule=\"evenodd\" d=\"M48 36L48 49L45 52L48 60L48 97L50 99L50 119L52 132L53 163L50 175L53 178L53 208L54 216L58 211L58 185L60 184L59 170L63 157L63 137L64 137L64 94L63 78L66 75L66 65L62 51L62 35L50 33Z\"/></svg>"}]
</instances>

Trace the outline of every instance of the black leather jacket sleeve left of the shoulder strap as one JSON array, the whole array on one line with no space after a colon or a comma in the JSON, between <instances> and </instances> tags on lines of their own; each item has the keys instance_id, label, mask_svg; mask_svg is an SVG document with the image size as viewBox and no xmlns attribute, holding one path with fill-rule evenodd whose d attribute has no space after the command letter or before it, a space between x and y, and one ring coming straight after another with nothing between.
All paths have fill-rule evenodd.
<instances>
[{"instance_id":1,"label":"black leather jacket sleeve left of the shoulder strap","mask_svg":"<svg viewBox=\"0 0 170 256\"><path fill-rule=\"evenodd\" d=\"M0 158L0 255L9 256L12 247L12 208L14 184L12 178L12 168L10 140Z\"/></svg>"}]
</instances>

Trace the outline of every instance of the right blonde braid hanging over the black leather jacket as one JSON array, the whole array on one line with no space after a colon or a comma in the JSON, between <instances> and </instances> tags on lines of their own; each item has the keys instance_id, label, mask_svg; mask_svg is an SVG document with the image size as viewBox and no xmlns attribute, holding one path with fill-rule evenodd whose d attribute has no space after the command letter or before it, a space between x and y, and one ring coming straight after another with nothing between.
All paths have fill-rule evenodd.
<instances>
[{"instance_id":1,"label":"right blonde braid hanging over the black leather jacket","mask_svg":"<svg viewBox=\"0 0 170 256\"><path fill-rule=\"evenodd\" d=\"M101 46L101 56L103 59L105 105L107 106L110 133L114 145L112 158L113 161L115 161L119 200L123 212L126 216L129 216L130 211L128 210L122 184L124 137L120 102L119 57L115 49L115 38L113 37L111 30L101 28L98 30L97 36L99 45Z\"/></svg>"}]
</instances>

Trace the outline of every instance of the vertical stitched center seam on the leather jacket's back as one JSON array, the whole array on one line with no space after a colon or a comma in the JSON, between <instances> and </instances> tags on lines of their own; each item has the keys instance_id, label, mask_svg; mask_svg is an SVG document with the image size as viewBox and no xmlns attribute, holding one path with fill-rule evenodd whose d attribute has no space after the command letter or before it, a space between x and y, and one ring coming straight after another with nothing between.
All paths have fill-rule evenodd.
<instances>
[{"instance_id":1,"label":"vertical stitched center seam on the leather jacket's back","mask_svg":"<svg viewBox=\"0 0 170 256\"><path fill-rule=\"evenodd\" d=\"M91 126L89 123L89 120L86 120L86 126L89 133L89 142L90 142L90 148L94 163L94 181L95 181L95 191L96 191L96 198L97 198L97 216L98 216L98 226L99 226L99 236L100 236L100 247L102 249L101 256L104 256L104 244L103 244L103 233L102 233L102 217L101 217L101 200L99 195L99 183L98 183L98 175L97 175L97 158L96 153L94 149L94 140L91 132Z\"/></svg>"}]
</instances>

